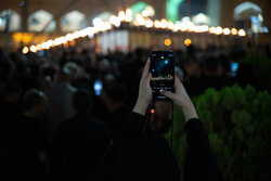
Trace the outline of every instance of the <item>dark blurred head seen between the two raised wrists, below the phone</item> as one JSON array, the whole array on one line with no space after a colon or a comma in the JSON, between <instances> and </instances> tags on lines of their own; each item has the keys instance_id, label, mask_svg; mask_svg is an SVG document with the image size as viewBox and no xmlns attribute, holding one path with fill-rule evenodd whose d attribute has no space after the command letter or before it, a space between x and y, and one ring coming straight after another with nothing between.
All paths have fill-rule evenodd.
<instances>
[{"instance_id":1,"label":"dark blurred head seen between the two raised wrists, below the phone","mask_svg":"<svg viewBox=\"0 0 271 181\"><path fill-rule=\"evenodd\" d=\"M152 131L164 134L169 130L171 126L171 102L166 101L155 103L155 111L152 113L150 119L150 127Z\"/></svg>"}]
</instances>

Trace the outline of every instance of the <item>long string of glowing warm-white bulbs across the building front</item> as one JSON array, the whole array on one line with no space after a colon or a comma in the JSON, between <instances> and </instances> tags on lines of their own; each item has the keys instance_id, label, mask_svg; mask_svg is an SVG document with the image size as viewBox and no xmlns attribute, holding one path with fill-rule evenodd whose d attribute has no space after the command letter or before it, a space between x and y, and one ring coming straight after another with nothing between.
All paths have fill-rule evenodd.
<instances>
[{"instance_id":1,"label":"long string of glowing warm-white bulbs across the building front","mask_svg":"<svg viewBox=\"0 0 271 181\"><path fill-rule=\"evenodd\" d=\"M137 13L136 15L133 15L131 9L128 8L126 9L126 11L119 11L117 15L112 15L107 22L103 22L100 18L94 18L92 27L87 27L81 30L69 33L66 34L65 36L57 37L55 39L50 39L39 44L24 47L23 53L26 54L29 51L36 53L37 51L40 50L48 50L56 46L65 44L68 41L74 41L78 38L83 38L87 36L93 37L95 34L99 34L101 31L107 31L115 27L118 28L120 27L121 23L129 23L130 26L134 27L142 26L146 28L167 29L167 30L172 30L173 33L185 31L185 33L209 33L212 35L225 35L225 36L232 35L240 37L246 36L246 31L244 29L237 30L236 28L230 29L230 28L222 28L220 26L209 27L207 25L195 25L193 22L172 23L170 21L167 21L166 18L152 21L149 17L147 11L143 11L142 13ZM165 43L170 44L170 42L165 42Z\"/></svg>"}]
</instances>

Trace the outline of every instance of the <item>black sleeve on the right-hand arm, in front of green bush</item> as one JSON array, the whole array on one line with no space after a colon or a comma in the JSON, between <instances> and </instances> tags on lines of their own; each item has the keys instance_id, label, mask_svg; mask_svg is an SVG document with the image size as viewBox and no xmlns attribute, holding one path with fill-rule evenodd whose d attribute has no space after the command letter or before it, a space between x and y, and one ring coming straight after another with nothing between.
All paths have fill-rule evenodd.
<instances>
[{"instance_id":1,"label":"black sleeve on the right-hand arm, in front of green bush","mask_svg":"<svg viewBox=\"0 0 271 181\"><path fill-rule=\"evenodd\" d=\"M199 119L190 119L185 125L189 151L184 181L223 181L211 153L209 139Z\"/></svg>"}]
</instances>

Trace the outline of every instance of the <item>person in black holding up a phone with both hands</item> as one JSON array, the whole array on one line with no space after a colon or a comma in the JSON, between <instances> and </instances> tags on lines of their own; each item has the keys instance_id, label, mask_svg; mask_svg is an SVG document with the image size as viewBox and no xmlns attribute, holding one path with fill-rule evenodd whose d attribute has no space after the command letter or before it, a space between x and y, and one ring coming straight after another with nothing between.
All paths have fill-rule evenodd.
<instances>
[{"instance_id":1,"label":"person in black holding up a phone with both hands","mask_svg":"<svg viewBox=\"0 0 271 181\"><path fill-rule=\"evenodd\" d=\"M118 140L101 166L96 180L103 181L180 181L180 172L175 156L166 140L153 132L144 131L147 107L152 102L152 89L147 61L140 81L137 104L125 121ZM183 112L188 134L188 158L184 181L222 181L217 163L211 153L208 135L185 89L176 78L176 92L162 91Z\"/></svg>"}]
</instances>

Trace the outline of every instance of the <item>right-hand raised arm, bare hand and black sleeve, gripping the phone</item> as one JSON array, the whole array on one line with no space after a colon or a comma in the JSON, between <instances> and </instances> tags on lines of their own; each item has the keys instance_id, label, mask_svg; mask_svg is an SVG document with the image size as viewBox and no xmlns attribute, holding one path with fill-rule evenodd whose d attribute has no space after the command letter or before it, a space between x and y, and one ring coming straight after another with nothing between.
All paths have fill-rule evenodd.
<instances>
[{"instance_id":1,"label":"right-hand raised arm, bare hand and black sleeve, gripping the phone","mask_svg":"<svg viewBox=\"0 0 271 181\"><path fill-rule=\"evenodd\" d=\"M185 131L188 135L189 151L184 181L222 181L214 158L208 134L205 132L202 121L191 102L181 81L176 78L176 92L162 91L162 94L171 99L183 112L185 118Z\"/></svg>"}]
</instances>

